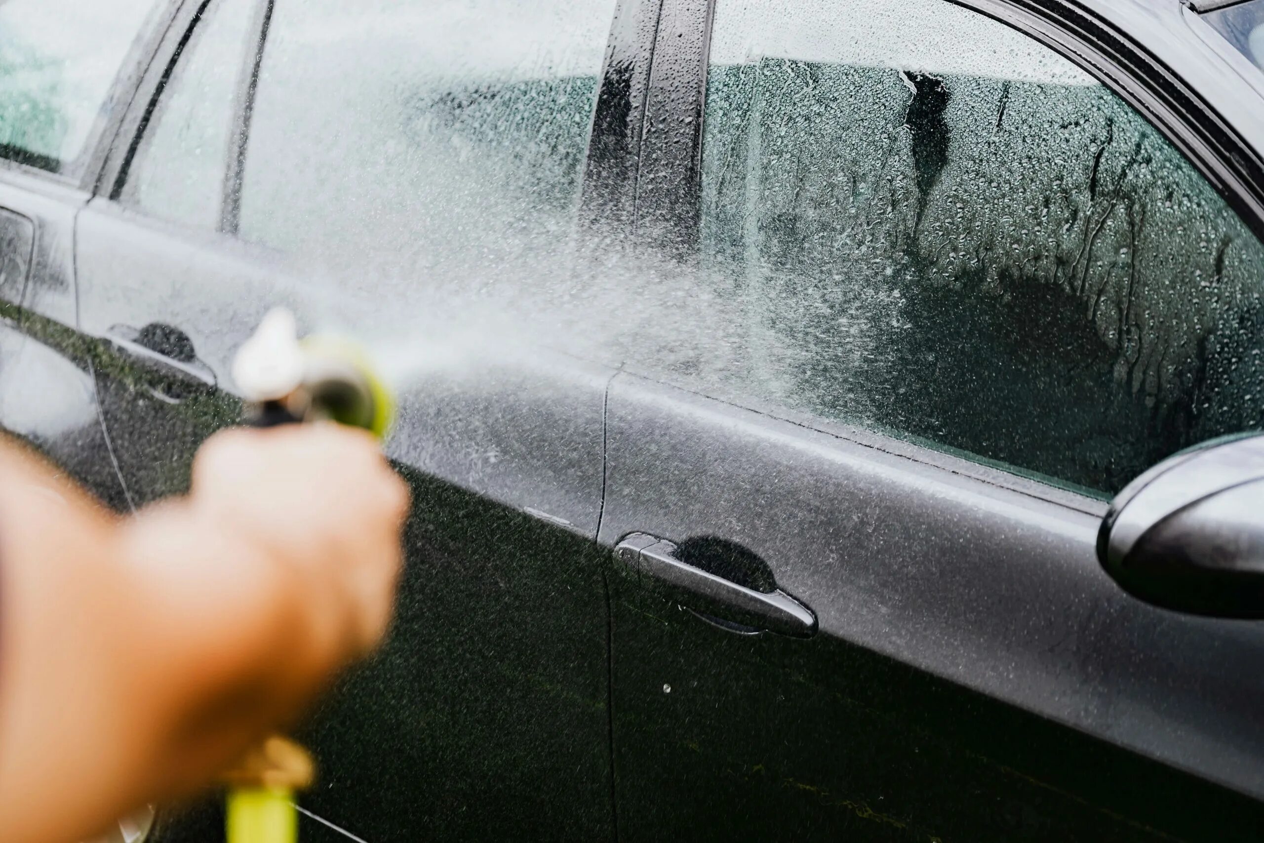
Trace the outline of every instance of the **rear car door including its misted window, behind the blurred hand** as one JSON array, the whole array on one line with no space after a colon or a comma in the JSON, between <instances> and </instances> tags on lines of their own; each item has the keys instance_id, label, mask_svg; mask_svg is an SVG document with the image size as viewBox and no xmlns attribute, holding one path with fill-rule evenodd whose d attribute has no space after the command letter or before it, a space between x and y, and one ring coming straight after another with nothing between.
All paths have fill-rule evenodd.
<instances>
[{"instance_id":1,"label":"rear car door including its misted window, behind the blurred hand","mask_svg":"<svg viewBox=\"0 0 1264 843\"><path fill-rule=\"evenodd\" d=\"M308 838L612 834L594 538L613 369L521 354L512 320L488 344L460 307L493 283L530 300L528 245L566 259L613 4L535 5L183 3L80 215L81 324L109 350L97 389L138 504L236 423L230 361L270 306L399 387L398 613L300 733ZM221 834L205 806L158 839Z\"/></svg>"}]
</instances>

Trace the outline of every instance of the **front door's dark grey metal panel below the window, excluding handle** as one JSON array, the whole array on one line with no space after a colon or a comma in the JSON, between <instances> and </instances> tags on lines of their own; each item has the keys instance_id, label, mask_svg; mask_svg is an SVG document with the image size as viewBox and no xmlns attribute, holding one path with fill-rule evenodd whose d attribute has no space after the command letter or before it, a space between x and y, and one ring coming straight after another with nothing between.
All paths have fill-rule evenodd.
<instances>
[{"instance_id":1,"label":"front door's dark grey metal panel below the window, excluding handle","mask_svg":"<svg viewBox=\"0 0 1264 843\"><path fill-rule=\"evenodd\" d=\"M612 580L626 837L688 824L717 829L698 839L723 839L719 829L779 818L784 832L885 839L884 823L858 822L861 805L910 839L1007 839L1019 830L1010 811L1033 813L1024 839L1069 839L1092 825L1074 819L1083 805L1179 833L1186 819L1157 794L1170 799L1188 777L1164 781L1134 752L1264 792L1264 686L1241 670L1264 662L1264 629L1119 591L1093 555L1097 502L1044 500L956 473L954 458L918 459L908 444L860 444L629 374L611 387L607 456L604 546L629 532L733 541L819 622L808 641L734 636ZM997 714L1004 707L983 699L1040 717ZM1109 777L1068 777L1025 751L1029 739L1079 744L1097 765L1152 780L1155 794L1129 803ZM997 771L1014 784L988 780ZM1083 805L1031 801L1023 777ZM690 780L693 800L655 798ZM1012 801L992 815L957 796L975 789ZM836 810L818 815L818 800ZM1184 833L1220 823L1210 806L1225 801L1235 804L1183 806L1201 818ZM1245 820L1259 819L1245 803L1225 814L1234 819L1218 839L1244 839Z\"/></svg>"}]
</instances>

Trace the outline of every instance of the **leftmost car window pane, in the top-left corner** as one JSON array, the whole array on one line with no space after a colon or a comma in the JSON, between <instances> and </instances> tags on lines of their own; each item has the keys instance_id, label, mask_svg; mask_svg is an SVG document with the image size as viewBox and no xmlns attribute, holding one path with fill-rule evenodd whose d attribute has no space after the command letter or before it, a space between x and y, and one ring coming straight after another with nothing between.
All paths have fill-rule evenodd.
<instances>
[{"instance_id":1,"label":"leftmost car window pane, in the top-left corner","mask_svg":"<svg viewBox=\"0 0 1264 843\"><path fill-rule=\"evenodd\" d=\"M81 155L154 0L0 4L0 157L61 172Z\"/></svg>"}]
</instances>

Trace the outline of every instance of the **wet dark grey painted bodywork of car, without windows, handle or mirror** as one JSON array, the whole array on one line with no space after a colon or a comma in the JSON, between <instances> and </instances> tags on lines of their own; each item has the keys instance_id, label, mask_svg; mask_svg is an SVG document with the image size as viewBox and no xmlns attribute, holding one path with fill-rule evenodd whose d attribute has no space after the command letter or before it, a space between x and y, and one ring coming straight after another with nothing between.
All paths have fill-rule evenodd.
<instances>
[{"instance_id":1,"label":"wet dark grey painted bodywork of car, without windows, handle or mirror","mask_svg":"<svg viewBox=\"0 0 1264 843\"><path fill-rule=\"evenodd\" d=\"M1129 75L1150 71L1086 47L1082 8L964 5L1145 106ZM268 307L402 343L442 341L456 318L391 313L277 253L110 198L200 6L168 4L162 40L138 47L91 158L101 178L83 173L96 198L0 172L0 209L18 215L0 214L0 243L20 257L24 220L33 240L23 283L0 278L0 423L119 508L182 492L197 445L238 421L231 355ZM1259 86L1178 3L1083 8L1264 154L1264 109L1243 105ZM617 5L580 205L602 259L631 239L688 263L712 10ZM1148 114L1169 134L1182 119L1168 101ZM1182 148L1202 158L1232 147L1196 135ZM1230 195L1254 172L1203 166ZM187 340L166 351L191 346L179 372L200 387L137 356L154 325ZM397 623L301 732L321 763L303 805L321 820L372 843L1230 840L1264 825L1264 632L1117 591L1092 552L1101 500L617 365L520 350L440 355L408 378L386 444L415 502ZM629 532L752 552L819 629L737 634L650 594L609 552ZM305 838L345 839L321 820ZM207 804L162 818L155 839L221 834Z\"/></svg>"}]
</instances>

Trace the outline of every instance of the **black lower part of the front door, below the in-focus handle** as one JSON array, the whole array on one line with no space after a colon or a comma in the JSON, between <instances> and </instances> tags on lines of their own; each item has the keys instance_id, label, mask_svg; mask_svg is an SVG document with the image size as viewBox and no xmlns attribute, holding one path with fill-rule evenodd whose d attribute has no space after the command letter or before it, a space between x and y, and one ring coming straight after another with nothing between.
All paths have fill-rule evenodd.
<instances>
[{"instance_id":1,"label":"black lower part of the front door, below the in-focus handle","mask_svg":"<svg viewBox=\"0 0 1264 843\"><path fill-rule=\"evenodd\" d=\"M827 636L612 578L619 839L1253 840L1264 806ZM667 690L670 688L670 691Z\"/></svg>"}]
</instances>

